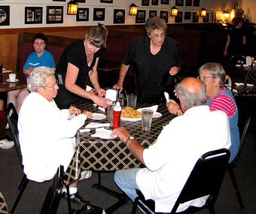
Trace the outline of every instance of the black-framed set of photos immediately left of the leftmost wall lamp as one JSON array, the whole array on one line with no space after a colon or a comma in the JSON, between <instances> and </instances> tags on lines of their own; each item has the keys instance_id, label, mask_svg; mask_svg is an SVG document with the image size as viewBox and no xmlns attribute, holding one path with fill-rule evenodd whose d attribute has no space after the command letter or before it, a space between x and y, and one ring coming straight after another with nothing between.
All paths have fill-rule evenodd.
<instances>
[{"instance_id":1,"label":"black-framed set of photos immediately left of the leftmost wall lamp","mask_svg":"<svg viewBox=\"0 0 256 214\"><path fill-rule=\"evenodd\" d=\"M47 6L46 23L63 23L63 6Z\"/></svg>"}]
</instances>

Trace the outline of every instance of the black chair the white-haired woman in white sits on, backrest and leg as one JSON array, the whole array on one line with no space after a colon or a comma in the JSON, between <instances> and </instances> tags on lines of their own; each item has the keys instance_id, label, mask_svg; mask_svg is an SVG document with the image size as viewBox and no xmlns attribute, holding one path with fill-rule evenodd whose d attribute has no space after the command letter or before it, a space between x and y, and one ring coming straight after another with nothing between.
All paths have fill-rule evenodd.
<instances>
[{"instance_id":1,"label":"black chair the white-haired woman in white sits on, backrest and leg","mask_svg":"<svg viewBox=\"0 0 256 214\"><path fill-rule=\"evenodd\" d=\"M23 164L22 164L22 154L21 154L21 150L20 150L20 140L19 140L19 131L18 131L18 114L17 111L14 107L14 104L10 103L8 104L8 106L6 107L6 113L7 113L7 121L8 121L8 125L11 131L11 137L14 140L14 145L17 151L17 155L20 161L20 166L23 168ZM19 190L19 194L14 202L14 206L11 209L11 213L14 213L18 203L20 202L20 198L23 195L23 192L26 188L26 185L29 183L29 179L26 178L26 174L23 173L23 179L20 182L20 185L18 187Z\"/></svg>"}]
</instances>

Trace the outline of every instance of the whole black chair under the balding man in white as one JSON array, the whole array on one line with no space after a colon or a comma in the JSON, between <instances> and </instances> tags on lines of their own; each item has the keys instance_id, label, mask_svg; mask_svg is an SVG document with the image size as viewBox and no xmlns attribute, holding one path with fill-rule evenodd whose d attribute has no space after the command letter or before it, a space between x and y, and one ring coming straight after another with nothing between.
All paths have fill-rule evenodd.
<instances>
[{"instance_id":1,"label":"whole black chair under the balding man in white","mask_svg":"<svg viewBox=\"0 0 256 214\"><path fill-rule=\"evenodd\" d=\"M195 164L190 176L188 176L187 182L182 188L172 211L169 213L176 213L181 203L209 195L205 205L201 207L189 206L183 212L178 213L193 213L200 209L209 209L209 212L214 214L214 204L224 179L229 158L230 152L227 149L218 149L202 155ZM145 200L142 192L136 191L139 196L134 200L132 213L136 213L137 206L140 206L146 213L155 213L154 200Z\"/></svg>"}]
</instances>

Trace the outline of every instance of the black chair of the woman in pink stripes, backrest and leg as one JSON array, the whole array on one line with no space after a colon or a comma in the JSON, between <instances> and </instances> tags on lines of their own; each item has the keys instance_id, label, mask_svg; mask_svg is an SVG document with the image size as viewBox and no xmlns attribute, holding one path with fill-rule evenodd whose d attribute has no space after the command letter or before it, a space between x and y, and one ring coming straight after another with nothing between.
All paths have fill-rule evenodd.
<instances>
[{"instance_id":1,"label":"black chair of the woman in pink stripes, backrest and leg","mask_svg":"<svg viewBox=\"0 0 256 214\"><path fill-rule=\"evenodd\" d=\"M239 122L239 131L240 131L240 134L242 133L242 135L240 137L239 149L238 149L236 158L234 158L233 161L230 162L230 164L228 164L228 166L227 166L227 171L230 173L230 178L231 178L231 181L233 183L233 187L235 188L236 196L237 196L237 199L239 201L239 204L240 204L241 208L243 208L244 205L242 203L242 197L241 197L241 194L240 194L237 182L236 182L235 174L233 173L233 168L236 167L237 161L239 159L239 156L240 156L240 153L241 153L241 150L242 150L243 143L245 141L245 136L247 134L247 130L248 130L248 126L250 124L250 121L251 121L251 116L248 116L248 118L245 120L245 125L242 125L242 122Z\"/></svg>"}]
</instances>

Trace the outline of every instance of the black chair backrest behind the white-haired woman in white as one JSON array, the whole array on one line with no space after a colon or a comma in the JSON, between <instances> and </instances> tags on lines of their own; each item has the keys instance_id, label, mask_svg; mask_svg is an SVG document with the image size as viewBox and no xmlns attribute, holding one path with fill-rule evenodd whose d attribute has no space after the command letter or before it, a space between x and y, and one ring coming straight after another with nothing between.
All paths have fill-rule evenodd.
<instances>
[{"instance_id":1,"label":"black chair backrest behind the white-haired woman in white","mask_svg":"<svg viewBox=\"0 0 256 214\"><path fill-rule=\"evenodd\" d=\"M6 107L7 121L11 131L11 137L13 137L14 145L19 157L20 163L22 164L22 154L20 150L20 140L18 131L18 114L14 107L14 104L9 103Z\"/></svg>"}]
</instances>

